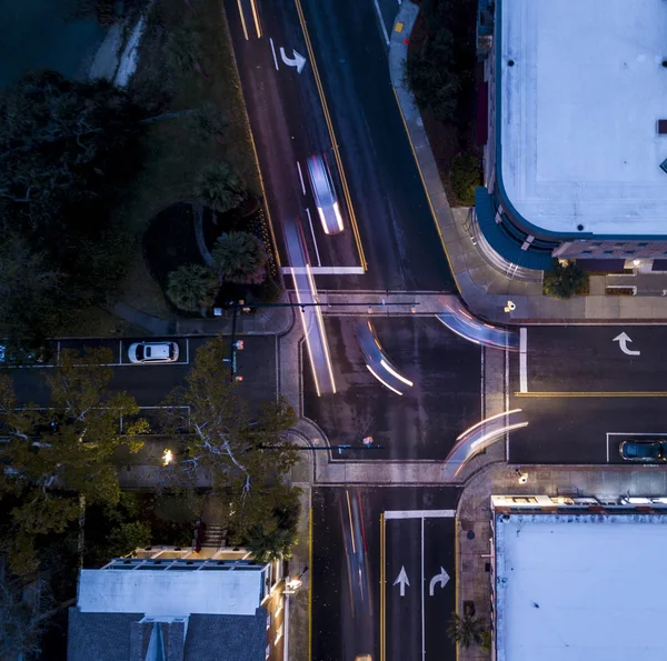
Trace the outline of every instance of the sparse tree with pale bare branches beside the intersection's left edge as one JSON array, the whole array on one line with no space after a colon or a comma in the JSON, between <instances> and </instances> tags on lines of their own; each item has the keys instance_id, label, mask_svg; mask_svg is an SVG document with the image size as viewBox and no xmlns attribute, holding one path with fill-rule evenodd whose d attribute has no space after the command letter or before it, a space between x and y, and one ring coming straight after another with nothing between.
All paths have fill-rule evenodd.
<instances>
[{"instance_id":1,"label":"sparse tree with pale bare branches beside the intersection's left edge","mask_svg":"<svg viewBox=\"0 0 667 661\"><path fill-rule=\"evenodd\" d=\"M283 398L252 410L221 369L227 357L221 337L197 350L185 384L166 402L166 422L172 433L187 434L179 470L208 474L213 491L223 495L228 539L240 543L252 530L256 537L271 533L293 511L298 492L282 482L297 460L286 434L296 415Z\"/></svg>"}]
</instances>

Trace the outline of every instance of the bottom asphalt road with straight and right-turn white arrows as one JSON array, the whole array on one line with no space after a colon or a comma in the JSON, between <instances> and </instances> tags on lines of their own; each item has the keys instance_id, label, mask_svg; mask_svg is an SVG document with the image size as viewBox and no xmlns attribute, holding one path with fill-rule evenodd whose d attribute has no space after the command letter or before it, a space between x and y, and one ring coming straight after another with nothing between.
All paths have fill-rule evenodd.
<instances>
[{"instance_id":1,"label":"bottom asphalt road with straight and right-turn white arrows","mask_svg":"<svg viewBox=\"0 0 667 661\"><path fill-rule=\"evenodd\" d=\"M387 520L381 544L380 515L385 512L455 510L459 491L452 488L320 488L313 492L312 659L352 660L357 654L380 658L382 613L386 623L386 659L411 661L455 659L444 635L455 608L454 518ZM349 503L349 509L348 509ZM351 512L351 513L350 513ZM358 514L359 513L359 519ZM424 537L421 525L424 521ZM350 531L357 530L366 561L355 561ZM380 601L385 563L386 595ZM410 585L394 585L405 568ZM421 571L424 568L424 580ZM441 585L431 580L444 568L449 575ZM361 569L361 572L359 572ZM351 570L351 574L350 574ZM368 581L368 600L361 587ZM422 598L424 594L424 598ZM422 650L426 655L422 655Z\"/></svg>"}]
</instances>

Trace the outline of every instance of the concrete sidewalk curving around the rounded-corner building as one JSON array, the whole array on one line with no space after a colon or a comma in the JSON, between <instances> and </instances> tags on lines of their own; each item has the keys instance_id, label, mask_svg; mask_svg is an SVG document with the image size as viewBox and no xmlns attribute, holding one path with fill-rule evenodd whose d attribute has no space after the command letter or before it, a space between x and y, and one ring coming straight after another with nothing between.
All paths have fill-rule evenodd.
<instances>
[{"instance_id":1,"label":"concrete sidewalk curving around the rounded-corner building","mask_svg":"<svg viewBox=\"0 0 667 661\"><path fill-rule=\"evenodd\" d=\"M542 294L541 282L508 278L480 251L470 209L449 206L421 116L404 86L406 41L418 11L414 2L406 1L396 17L389 47L391 82L451 272L468 307L479 317L501 323L667 319L667 297L606 296L605 276L593 276L589 296L559 301ZM504 310L508 300L516 306L509 313Z\"/></svg>"}]
</instances>

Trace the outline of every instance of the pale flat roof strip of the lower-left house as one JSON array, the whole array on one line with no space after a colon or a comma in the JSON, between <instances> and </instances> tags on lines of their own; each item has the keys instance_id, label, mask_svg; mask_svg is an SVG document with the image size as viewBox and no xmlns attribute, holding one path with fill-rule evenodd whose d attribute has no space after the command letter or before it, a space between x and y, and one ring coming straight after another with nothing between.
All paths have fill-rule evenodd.
<instances>
[{"instance_id":1,"label":"pale flat roof strip of the lower-left house","mask_svg":"<svg viewBox=\"0 0 667 661\"><path fill-rule=\"evenodd\" d=\"M77 605L82 612L253 615L261 603L261 571L83 569Z\"/></svg>"}]
</instances>

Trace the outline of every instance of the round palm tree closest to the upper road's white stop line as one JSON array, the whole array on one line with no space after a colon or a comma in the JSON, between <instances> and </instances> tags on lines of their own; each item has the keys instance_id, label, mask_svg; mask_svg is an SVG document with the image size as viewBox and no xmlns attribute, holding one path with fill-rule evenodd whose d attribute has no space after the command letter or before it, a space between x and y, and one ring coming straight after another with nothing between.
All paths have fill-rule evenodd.
<instances>
[{"instance_id":1,"label":"round palm tree closest to the upper road's white stop line","mask_svg":"<svg viewBox=\"0 0 667 661\"><path fill-rule=\"evenodd\" d=\"M259 284L266 278L267 253L262 242L248 232L225 232L212 250L220 282Z\"/></svg>"}]
</instances>

